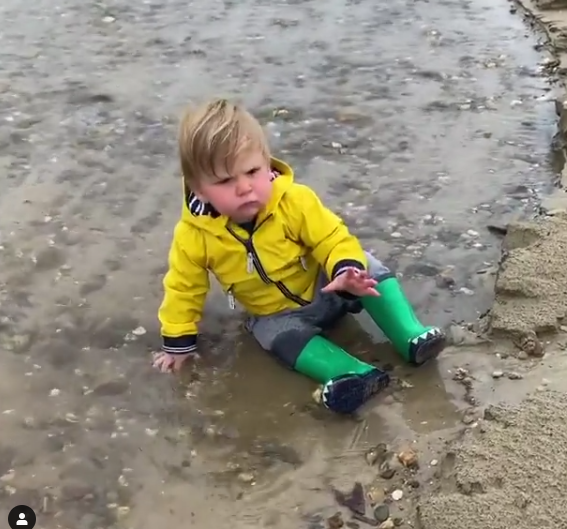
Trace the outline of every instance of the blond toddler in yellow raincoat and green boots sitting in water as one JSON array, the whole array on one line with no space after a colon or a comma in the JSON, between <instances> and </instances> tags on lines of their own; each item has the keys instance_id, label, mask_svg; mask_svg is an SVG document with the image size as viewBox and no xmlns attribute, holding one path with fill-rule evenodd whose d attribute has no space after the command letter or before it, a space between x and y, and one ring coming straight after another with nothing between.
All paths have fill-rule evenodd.
<instances>
[{"instance_id":1,"label":"blond toddler in yellow raincoat and green boots sitting in water","mask_svg":"<svg viewBox=\"0 0 567 529\"><path fill-rule=\"evenodd\" d=\"M197 351L209 272L246 328L287 367L323 386L323 404L354 412L389 376L325 338L347 313L366 310L395 349L419 365L445 344L416 318L398 280L292 168L271 157L258 121L215 100L190 111L179 133L183 211L159 309L154 366L175 371Z\"/></svg>"}]
</instances>

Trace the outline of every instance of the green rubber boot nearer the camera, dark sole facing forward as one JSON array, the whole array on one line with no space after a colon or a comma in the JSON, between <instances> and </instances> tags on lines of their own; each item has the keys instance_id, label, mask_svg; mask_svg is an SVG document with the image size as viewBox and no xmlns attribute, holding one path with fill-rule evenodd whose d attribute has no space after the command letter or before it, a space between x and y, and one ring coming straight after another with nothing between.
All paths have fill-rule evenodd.
<instances>
[{"instance_id":1,"label":"green rubber boot nearer the camera, dark sole facing forward","mask_svg":"<svg viewBox=\"0 0 567 529\"><path fill-rule=\"evenodd\" d=\"M354 413L390 383L387 373L361 362L322 336L314 336L305 345L294 369L323 384L324 406L342 414Z\"/></svg>"}]
</instances>

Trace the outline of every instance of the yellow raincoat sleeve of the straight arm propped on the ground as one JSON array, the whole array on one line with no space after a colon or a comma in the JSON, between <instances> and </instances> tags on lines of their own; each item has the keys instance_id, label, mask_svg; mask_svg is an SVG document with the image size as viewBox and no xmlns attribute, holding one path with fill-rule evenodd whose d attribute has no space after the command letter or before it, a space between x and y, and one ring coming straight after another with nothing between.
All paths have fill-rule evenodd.
<instances>
[{"instance_id":1,"label":"yellow raincoat sleeve of the straight arm propped on the ground","mask_svg":"<svg viewBox=\"0 0 567 529\"><path fill-rule=\"evenodd\" d=\"M209 291L209 274L202 235L180 221L169 250L169 269L163 280L159 308L162 350L186 354L197 349L197 324Z\"/></svg>"}]
</instances>

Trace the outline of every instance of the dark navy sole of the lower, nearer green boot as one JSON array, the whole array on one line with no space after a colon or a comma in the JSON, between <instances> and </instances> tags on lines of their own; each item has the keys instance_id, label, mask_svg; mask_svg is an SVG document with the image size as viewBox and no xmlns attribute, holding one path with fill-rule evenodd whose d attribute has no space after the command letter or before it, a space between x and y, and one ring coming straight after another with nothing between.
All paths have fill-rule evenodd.
<instances>
[{"instance_id":1,"label":"dark navy sole of the lower, nearer green boot","mask_svg":"<svg viewBox=\"0 0 567 529\"><path fill-rule=\"evenodd\" d=\"M348 415L354 413L389 384L390 375L379 369L373 369L365 375L344 375L325 385L323 404L335 413Z\"/></svg>"}]
</instances>

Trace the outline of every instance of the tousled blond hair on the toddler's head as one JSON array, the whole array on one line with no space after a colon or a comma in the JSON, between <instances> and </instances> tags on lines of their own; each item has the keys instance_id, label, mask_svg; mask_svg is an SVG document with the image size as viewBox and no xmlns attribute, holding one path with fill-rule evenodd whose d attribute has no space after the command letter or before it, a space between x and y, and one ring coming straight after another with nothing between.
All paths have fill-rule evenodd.
<instances>
[{"instance_id":1,"label":"tousled blond hair on the toddler's head","mask_svg":"<svg viewBox=\"0 0 567 529\"><path fill-rule=\"evenodd\" d=\"M243 107L216 99L188 109L179 129L179 156L183 179L189 187L230 174L242 152L256 148L269 157L262 126Z\"/></svg>"}]
</instances>

